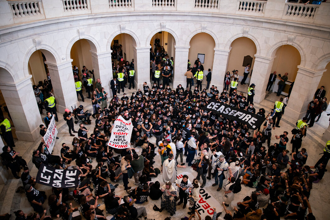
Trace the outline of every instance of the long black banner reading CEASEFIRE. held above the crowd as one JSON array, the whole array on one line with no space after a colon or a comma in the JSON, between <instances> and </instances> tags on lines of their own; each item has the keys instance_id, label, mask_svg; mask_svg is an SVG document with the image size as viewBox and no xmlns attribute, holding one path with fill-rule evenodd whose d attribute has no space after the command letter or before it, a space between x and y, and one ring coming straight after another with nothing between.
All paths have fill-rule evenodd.
<instances>
[{"instance_id":1,"label":"long black banner reading CEASEFIRE. held above the crowd","mask_svg":"<svg viewBox=\"0 0 330 220\"><path fill-rule=\"evenodd\" d=\"M227 104L213 101L202 110L210 110L215 114L222 115L222 117L229 118L231 120L246 124L249 129L255 130L259 128L266 118L261 117L257 114L250 113L246 110L231 107Z\"/></svg>"}]
</instances>

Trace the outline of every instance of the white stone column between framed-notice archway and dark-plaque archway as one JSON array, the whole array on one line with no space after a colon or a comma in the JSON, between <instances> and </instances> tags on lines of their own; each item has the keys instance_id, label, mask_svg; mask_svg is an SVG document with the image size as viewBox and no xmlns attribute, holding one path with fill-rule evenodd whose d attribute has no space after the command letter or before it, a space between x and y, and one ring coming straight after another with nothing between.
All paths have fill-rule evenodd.
<instances>
[{"instance_id":1,"label":"white stone column between framed-notice archway and dark-plaque archway","mask_svg":"<svg viewBox=\"0 0 330 220\"><path fill-rule=\"evenodd\" d=\"M223 81L225 78L225 74L227 72L227 64L229 58L230 50L223 50L214 48L214 60L212 67L212 79L210 82L210 87L212 85L216 86L219 92L221 93L223 90ZM204 75L208 73L208 70L204 70ZM205 78L205 80L204 80ZM206 77L204 76L203 81L206 82ZM210 88L209 88L210 89Z\"/></svg>"}]
</instances>

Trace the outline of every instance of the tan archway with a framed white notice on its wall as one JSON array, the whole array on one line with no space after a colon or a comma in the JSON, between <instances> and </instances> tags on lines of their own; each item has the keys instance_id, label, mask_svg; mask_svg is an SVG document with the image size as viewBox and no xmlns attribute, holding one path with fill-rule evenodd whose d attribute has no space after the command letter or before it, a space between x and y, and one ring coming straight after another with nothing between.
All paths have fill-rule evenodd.
<instances>
[{"instance_id":1,"label":"tan archway with a framed white notice on its wall","mask_svg":"<svg viewBox=\"0 0 330 220\"><path fill-rule=\"evenodd\" d=\"M194 64L197 63L196 67L198 68L197 60L199 60L201 62L200 64L203 66L204 69L204 70L201 69L204 74L204 78L202 81L202 89L203 89L207 85L205 75L208 73L208 69L211 69L212 72L212 68L213 68L215 40L210 34L198 33L191 38L189 45L190 48L188 53L188 59L189 62L191 63L191 67L193 68ZM192 74L195 75L195 73ZM195 85L196 85L196 79L194 79L194 86Z\"/></svg>"}]
</instances>

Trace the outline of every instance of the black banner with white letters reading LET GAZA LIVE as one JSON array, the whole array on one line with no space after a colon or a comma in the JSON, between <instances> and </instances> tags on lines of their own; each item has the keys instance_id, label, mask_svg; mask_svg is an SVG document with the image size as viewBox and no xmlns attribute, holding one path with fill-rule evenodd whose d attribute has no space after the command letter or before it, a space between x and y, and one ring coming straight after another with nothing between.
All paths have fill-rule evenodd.
<instances>
[{"instance_id":1,"label":"black banner with white letters reading LET GAZA LIVE","mask_svg":"<svg viewBox=\"0 0 330 220\"><path fill-rule=\"evenodd\" d=\"M79 182L79 170L55 169L49 165L41 164L36 180L37 183L57 187L75 188Z\"/></svg>"}]
</instances>

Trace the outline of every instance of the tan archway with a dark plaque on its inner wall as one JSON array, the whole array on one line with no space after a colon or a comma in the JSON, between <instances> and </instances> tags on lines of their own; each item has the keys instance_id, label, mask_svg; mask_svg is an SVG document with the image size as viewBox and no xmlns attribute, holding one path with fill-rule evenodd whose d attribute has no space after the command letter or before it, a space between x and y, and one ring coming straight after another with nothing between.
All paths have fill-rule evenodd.
<instances>
[{"instance_id":1,"label":"tan archway with a dark plaque on its inner wall","mask_svg":"<svg viewBox=\"0 0 330 220\"><path fill-rule=\"evenodd\" d=\"M245 67L250 64L249 74L245 80L246 85L239 85L238 91L247 92L248 85L251 79L254 65L254 54L257 52L257 47L255 43L247 37L240 37L235 39L231 43L230 54L228 58L227 71L230 72L230 75L233 75L233 71L237 70L239 75L239 82L242 82L244 78ZM223 80L223 79L221 79Z\"/></svg>"}]
</instances>

